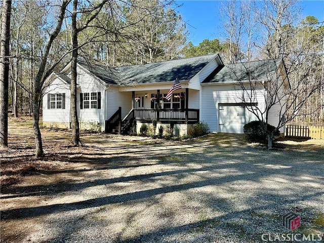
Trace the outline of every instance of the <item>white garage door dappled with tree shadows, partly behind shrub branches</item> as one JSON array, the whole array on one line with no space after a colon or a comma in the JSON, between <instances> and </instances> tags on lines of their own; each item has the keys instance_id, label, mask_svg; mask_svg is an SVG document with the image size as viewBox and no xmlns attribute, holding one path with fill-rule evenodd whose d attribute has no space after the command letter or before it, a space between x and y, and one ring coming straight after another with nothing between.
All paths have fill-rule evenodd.
<instances>
[{"instance_id":1,"label":"white garage door dappled with tree shadows, partly behind shrub branches","mask_svg":"<svg viewBox=\"0 0 324 243\"><path fill-rule=\"evenodd\" d=\"M221 133L244 133L243 126L253 120L257 120L256 116L242 105L219 106L219 132Z\"/></svg>"}]
</instances>

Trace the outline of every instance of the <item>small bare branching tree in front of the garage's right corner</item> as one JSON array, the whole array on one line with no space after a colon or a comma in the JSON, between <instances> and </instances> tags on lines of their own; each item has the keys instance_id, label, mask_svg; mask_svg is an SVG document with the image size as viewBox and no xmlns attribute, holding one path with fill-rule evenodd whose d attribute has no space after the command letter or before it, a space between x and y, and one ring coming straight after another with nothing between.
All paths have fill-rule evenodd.
<instances>
[{"instance_id":1,"label":"small bare branching tree in front of the garage's right corner","mask_svg":"<svg viewBox=\"0 0 324 243\"><path fill-rule=\"evenodd\" d=\"M308 99L321 89L321 80L309 78L310 66L291 85L282 59L231 64L230 70L238 85L237 99L263 124L269 148L275 132L300 115Z\"/></svg>"}]
</instances>

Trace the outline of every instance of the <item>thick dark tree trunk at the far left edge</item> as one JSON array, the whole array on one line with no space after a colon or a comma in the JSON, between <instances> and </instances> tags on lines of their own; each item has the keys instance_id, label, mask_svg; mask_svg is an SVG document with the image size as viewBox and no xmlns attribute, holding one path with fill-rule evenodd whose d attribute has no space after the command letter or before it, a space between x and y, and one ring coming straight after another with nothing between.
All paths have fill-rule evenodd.
<instances>
[{"instance_id":1,"label":"thick dark tree trunk at the far left edge","mask_svg":"<svg viewBox=\"0 0 324 243\"><path fill-rule=\"evenodd\" d=\"M4 1L0 51L0 148L8 147L8 86L11 0Z\"/></svg>"}]
</instances>

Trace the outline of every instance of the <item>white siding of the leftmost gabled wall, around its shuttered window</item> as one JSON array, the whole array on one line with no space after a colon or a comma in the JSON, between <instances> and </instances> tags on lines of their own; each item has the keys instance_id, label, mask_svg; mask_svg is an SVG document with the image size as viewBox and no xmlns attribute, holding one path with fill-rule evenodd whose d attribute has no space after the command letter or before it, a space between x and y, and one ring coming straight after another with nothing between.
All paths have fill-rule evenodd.
<instances>
[{"instance_id":1,"label":"white siding of the leftmost gabled wall, around its shuttered window","mask_svg":"<svg viewBox=\"0 0 324 243\"><path fill-rule=\"evenodd\" d=\"M65 93L65 109L48 109L49 94ZM43 121L70 122L70 89L60 78L55 78L51 85L46 87L43 96Z\"/></svg>"}]
</instances>

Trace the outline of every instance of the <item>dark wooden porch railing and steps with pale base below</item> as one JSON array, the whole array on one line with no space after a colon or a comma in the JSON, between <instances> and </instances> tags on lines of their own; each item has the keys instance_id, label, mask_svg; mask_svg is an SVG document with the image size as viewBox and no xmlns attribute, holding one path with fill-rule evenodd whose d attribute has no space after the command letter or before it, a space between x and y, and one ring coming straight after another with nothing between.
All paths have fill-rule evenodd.
<instances>
[{"instance_id":1,"label":"dark wooden porch railing and steps with pale base below","mask_svg":"<svg viewBox=\"0 0 324 243\"><path fill-rule=\"evenodd\" d=\"M192 124L199 121L199 109L132 109L125 118L121 118L121 107L105 122L105 132L127 134L136 121L137 130L142 126L156 124L170 126L174 135L187 135ZM158 127L158 126L157 126Z\"/></svg>"}]
</instances>

